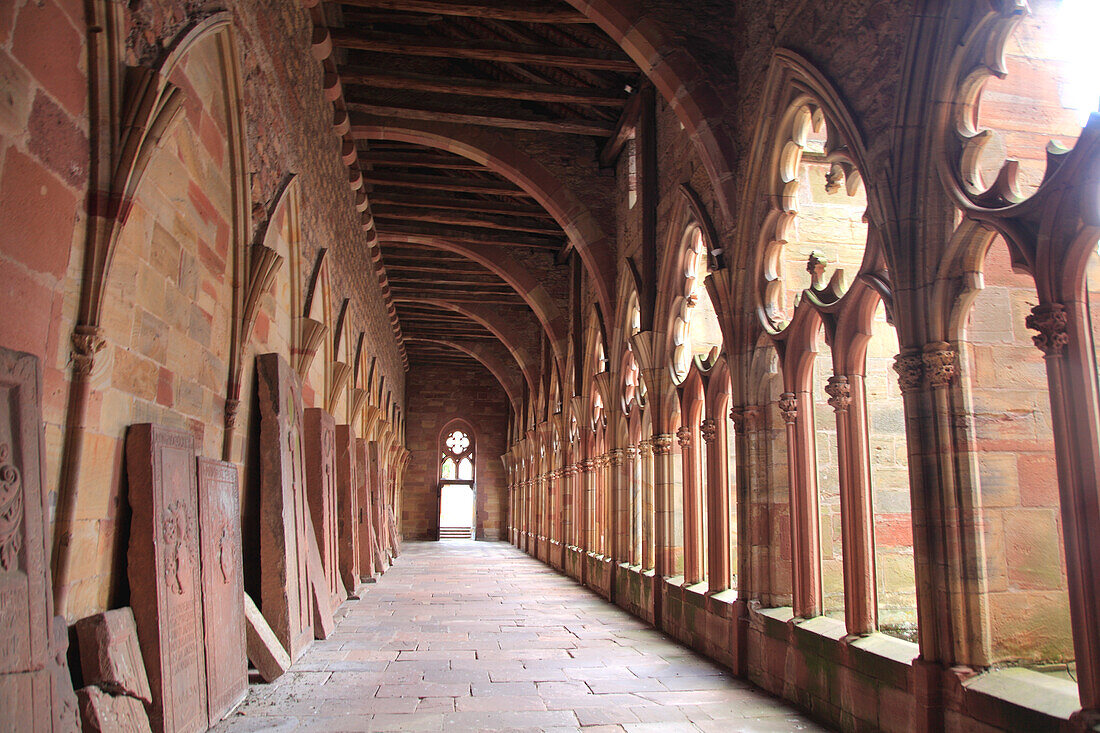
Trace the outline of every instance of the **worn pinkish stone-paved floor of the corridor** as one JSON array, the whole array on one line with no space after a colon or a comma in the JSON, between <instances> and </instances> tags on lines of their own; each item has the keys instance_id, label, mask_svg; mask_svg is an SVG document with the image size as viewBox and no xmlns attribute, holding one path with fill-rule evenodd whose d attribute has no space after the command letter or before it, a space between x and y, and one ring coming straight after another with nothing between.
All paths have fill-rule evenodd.
<instances>
[{"instance_id":1,"label":"worn pinkish stone-paved floor of the corridor","mask_svg":"<svg viewBox=\"0 0 1100 733\"><path fill-rule=\"evenodd\" d=\"M219 731L817 731L504 543L406 544Z\"/></svg>"}]
</instances>

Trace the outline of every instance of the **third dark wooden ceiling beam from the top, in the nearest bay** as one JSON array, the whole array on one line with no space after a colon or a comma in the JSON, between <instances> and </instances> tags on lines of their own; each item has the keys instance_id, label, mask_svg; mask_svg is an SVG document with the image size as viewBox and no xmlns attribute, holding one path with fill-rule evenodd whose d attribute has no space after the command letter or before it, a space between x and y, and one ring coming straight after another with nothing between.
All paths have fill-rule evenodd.
<instances>
[{"instance_id":1,"label":"third dark wooden ceiling beam from the top, in the nearest bay","mask_svg":"<svg viewBox=\"0 0 1100 733\"><path fill-rule=\"evenodd\" d=\"M466 97L491 97L494 99L522 99L527 101L558 102L562 105L590 105L595 107L618 107L627 103L627 95L617 89L594 89L588 87L564 87L550 84L516 84L493 79L471 79L380 72L362 67L340 69L340 81L344 86L367 86L382 89L431 91Z\"/></svg>"}]
</instances>

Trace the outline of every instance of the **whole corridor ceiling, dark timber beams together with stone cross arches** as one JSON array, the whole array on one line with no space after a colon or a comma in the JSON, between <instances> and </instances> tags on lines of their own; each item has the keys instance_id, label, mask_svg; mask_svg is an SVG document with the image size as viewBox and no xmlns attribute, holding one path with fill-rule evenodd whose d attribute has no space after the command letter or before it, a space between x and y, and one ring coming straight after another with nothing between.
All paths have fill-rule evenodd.
<instances>
[{"instance_id":1,"label":"whole corridor ceiling, dark timber beams together with stone cross arches","mask_svg":"<svg viewBox=\"0 0 1100 733\"><path fill-rule=\"evenodd\" d=\"M479 361L521 398L540 344L563 343L582 234L566 221L576 210L534 190L568 182L513 161L574 150L596 169L640 72L560 0L343 0L323 12L326 87L346 112L344 161L362 175L409 365Z\"/></svg>"}]
</instances>

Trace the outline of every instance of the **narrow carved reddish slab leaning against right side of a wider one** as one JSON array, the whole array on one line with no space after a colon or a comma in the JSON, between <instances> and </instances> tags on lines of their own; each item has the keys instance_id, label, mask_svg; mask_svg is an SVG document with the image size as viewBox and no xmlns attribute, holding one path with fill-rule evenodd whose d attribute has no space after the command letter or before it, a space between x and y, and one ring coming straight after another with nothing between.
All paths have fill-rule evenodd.
<instances>
[{"instance_id":1,"label":"narrow carved reddish slab leaning against right side of a wider one","mask_svg":"<svg viewBox=\"0 0 1100 733\"><path fill-rule=\"evenodd\" d=\"M207 710L216 723L249 692L241 500L235 464L199 458L198 474Z\"/></svg>"}]
</instances>

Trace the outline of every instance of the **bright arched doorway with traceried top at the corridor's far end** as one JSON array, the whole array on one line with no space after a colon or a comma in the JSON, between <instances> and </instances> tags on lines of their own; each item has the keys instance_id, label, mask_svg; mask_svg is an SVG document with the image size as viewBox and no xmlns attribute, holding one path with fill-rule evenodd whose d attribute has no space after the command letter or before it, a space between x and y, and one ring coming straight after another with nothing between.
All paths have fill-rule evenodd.
<instances>
[{"instance_id":1,"label":"bright arched doorway with traceried top at the corridor's far end","mask_svg":"<svg viewBox=\"0 0 1100 733\"><path fill-rule=\"evenodd\" d=\"M439 538L470 539L475 529L473 430L451 423L439 439Z\"/></svg>"}]
</instances>

